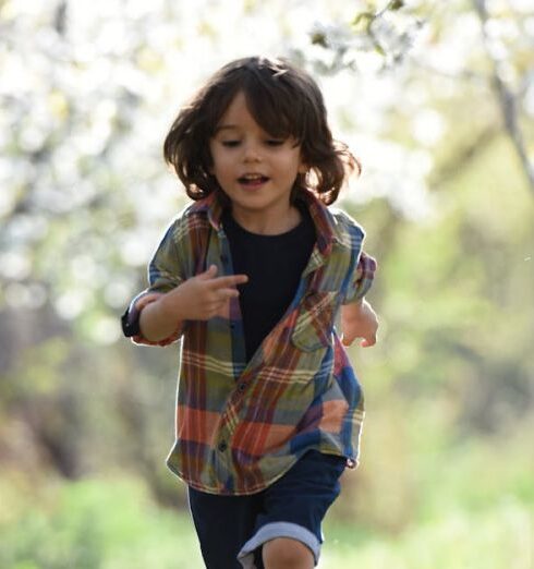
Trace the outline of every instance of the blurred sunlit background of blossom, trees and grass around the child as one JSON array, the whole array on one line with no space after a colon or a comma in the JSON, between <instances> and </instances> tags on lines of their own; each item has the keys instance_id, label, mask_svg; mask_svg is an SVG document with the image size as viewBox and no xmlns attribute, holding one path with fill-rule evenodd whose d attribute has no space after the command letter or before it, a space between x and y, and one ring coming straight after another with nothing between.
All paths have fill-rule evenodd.
<instances>
[{"instance_id":1,"label":"blurred sunlit background of blossom, trees and grass around the child","mask_svg":"<svg viewBox=\"0 0 534 569\"><path fill-rule=\"evenodd\" d=\"M178 351L119 317L186 204L173 117L257 53L317 78L379 262L319 567L533 569L531 0L0 0L0 567L203 567L165 467Z\"/></svg>"}]
</instances>

